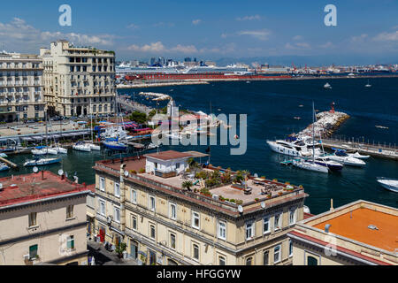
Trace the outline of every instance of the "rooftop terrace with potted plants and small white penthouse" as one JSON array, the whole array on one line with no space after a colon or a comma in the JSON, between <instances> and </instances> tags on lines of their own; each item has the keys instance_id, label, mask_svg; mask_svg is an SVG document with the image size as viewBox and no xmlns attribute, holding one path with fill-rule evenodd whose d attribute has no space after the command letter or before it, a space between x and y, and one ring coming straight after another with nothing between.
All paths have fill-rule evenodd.
<instances>
[{"instance_id":1,"label":"rooftop terrace with potted plants and small white penthouse","mask_svg":"<svg viewBox=\"0 0 398 283\"><path fill-rule=\"evenodd\" d=\"M223 210L236 217L308 196L302 186L192 161L206 156L195 151L171 150L143 157L100 161L94 168L119 176L120 166L126 164L126 180L201 203L213 210Z\"/></svg>"}]
</instances>

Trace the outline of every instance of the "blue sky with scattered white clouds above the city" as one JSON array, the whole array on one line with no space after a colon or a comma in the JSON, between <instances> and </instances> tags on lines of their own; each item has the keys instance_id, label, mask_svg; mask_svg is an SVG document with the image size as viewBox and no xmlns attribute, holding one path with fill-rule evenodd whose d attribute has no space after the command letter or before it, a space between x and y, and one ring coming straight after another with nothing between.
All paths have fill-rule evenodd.
<instances>
[{"instance_id":1,"label":"blue sky with scattered white clouds above the city","mask_svg":"<svg viewBox=\"0 0 398 283\"><path fill-rule=\"evenodd\" d=\"M58 23L61 4L72 8L71 27ZM336 6L336 27L325 26L327 4ZM398 63L398 1L2 1L0 50L38 53L57 39L115 50L119 60Z\"/></svg>"}]
</instances>

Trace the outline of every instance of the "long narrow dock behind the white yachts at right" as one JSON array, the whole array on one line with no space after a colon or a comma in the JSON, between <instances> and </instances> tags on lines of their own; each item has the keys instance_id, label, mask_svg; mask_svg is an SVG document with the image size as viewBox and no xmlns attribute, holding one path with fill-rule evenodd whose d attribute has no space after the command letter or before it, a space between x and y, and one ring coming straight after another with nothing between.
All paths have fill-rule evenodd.
<instances>
[{"instance_id":1,"label":"long narrow dock behind the white yachts at right","mask_svg":"<svg viewBox=\"0 0 398 283\"><path fill-rule=\"evenodd\" d=\"M352 142L340 139L324 139L322 141L326 149L345 149L348 152L358 151L371 157L388 158L398 161L398 147L396 145L383 145L379 143Z\"/></svg>"}]
</instances>

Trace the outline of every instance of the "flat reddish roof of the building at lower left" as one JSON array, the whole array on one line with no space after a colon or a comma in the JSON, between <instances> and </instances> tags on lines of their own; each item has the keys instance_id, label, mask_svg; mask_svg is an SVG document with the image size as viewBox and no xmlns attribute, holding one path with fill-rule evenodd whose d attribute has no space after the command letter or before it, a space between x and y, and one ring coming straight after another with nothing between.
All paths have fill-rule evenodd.
<instances>
[{"instance_id":1,"label":"flat reddish roof of the building at lower left","mask_svg":"<svg viewBox=\"0 0 398 283\"><path fill-rule=\"evenodd\" d=\"M13 204L88 191L86 186L67 179L61 180L53 172L2 178L0 184L3 185L3 190L0 191L0 209Z\"/></svg>"}]
</instances>

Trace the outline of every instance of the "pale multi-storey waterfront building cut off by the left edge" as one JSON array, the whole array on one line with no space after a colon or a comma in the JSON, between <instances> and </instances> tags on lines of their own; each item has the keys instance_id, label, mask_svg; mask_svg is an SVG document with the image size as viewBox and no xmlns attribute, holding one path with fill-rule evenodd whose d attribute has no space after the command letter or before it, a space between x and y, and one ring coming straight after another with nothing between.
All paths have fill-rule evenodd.
<instances>
[{"instance_id":1,"label":"pale multi-storey waterfront building cut off by the left edge","mask_svg":"<svg viewBox=\"0 0 398 283\"><path fill-rule=\"evenodd\" d=\"M44 117L42 72L36 55L0 53L0 122Z\"/></svg>"}]
</instances>

